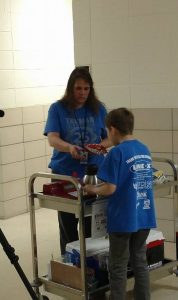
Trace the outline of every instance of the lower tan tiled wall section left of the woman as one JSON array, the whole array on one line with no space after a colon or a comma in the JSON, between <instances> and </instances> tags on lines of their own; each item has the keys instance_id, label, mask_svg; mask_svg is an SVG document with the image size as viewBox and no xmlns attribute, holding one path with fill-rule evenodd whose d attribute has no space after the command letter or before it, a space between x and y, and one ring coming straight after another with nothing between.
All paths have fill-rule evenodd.
<instances>
[{"instance_id":1,"label":"lower tan tiled wall section left of the woman","mask_svg":"<svg viewBox=\"0 0 178 300\"><path fill-rule=\"evenodd\" d=\"M51 152L43 136L47 106L9 108L0 124L0 218L28 210L28 182L35 172L50 172ZM35 183L42 189L43 179ZM37 205L38 207L38 205Z\"/></svg>"}]
</instances>

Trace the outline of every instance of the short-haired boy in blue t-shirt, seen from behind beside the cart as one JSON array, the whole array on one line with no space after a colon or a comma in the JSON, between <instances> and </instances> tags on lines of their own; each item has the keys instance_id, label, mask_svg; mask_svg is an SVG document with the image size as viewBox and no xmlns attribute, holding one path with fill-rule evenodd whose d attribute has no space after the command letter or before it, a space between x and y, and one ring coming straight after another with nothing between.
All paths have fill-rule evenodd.
<instances>
[{"instance_id":1,"label":"short-haired boy in blue t-shirt, seen from behind beside the cart","mask_svg":"<svg viewBox=\"0 0 178 300\"><path fill-rule=\"evenodd\" d=\"M152 160L146 145L134 139L134 116L126 108L109 112L108 136L114 145L101 164L100 185L86 185L88 193L109 196L109 273L111 300L126 297L127 265L134 271L134 299L150 299L146 239L156 227L152 189Z\"/></svg>"}]
</instances>

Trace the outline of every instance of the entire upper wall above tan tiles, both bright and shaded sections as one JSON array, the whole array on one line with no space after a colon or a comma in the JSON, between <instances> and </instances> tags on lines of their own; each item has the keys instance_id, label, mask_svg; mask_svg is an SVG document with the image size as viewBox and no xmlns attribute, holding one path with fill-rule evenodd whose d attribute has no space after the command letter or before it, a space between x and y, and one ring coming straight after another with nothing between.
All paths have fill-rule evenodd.
<instances>
[{"instance_id":1,"label":"entire upper wall above tan tiles, both bright and shaded sections","mask_svg":"<svg viewBox=\"0 0 178 300\"><path fill-rule=\"evenodd\" d=\"M72 0L0 0L0 108L59 98L73 68ZM178 0L74 0L77 65L109 108L178 107Z\"/></svg>"}]
</instances>

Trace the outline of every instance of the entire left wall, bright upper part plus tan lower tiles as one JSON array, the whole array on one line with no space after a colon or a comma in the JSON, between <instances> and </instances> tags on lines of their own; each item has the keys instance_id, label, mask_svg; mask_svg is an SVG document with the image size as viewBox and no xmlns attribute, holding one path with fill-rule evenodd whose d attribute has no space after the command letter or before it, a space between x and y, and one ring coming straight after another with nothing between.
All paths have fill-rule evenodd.
<instances>
[{"instance_id":1,"label":"entire left wall, bright upper part plus tan lower tiles","mask_svg":"<svg viewBox=\"0 0 178 300\"><path fill-rule=\"evenodd\" d=\"M50 171L44 121L64 94L73 48L72 0L0 0L0 218L27 211L29 177Z\"/></svg>"}]
</instances>

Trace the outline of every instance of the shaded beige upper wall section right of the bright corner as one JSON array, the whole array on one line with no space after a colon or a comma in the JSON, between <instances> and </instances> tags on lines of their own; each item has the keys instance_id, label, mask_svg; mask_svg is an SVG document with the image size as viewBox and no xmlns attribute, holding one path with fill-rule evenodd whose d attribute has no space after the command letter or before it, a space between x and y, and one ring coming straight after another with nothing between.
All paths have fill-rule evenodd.
<instances>
[{"instance_id":1,"label":"shaded beige upper wall section right of the bright corner","mask_svg":"<svg viewBox=\"0 0 178 300\"><path fill-rule=\"evenodd\" d=\"M178 107L178 0L74 0L77 65L109 108Z\"/></svg>"}]
</instances>

